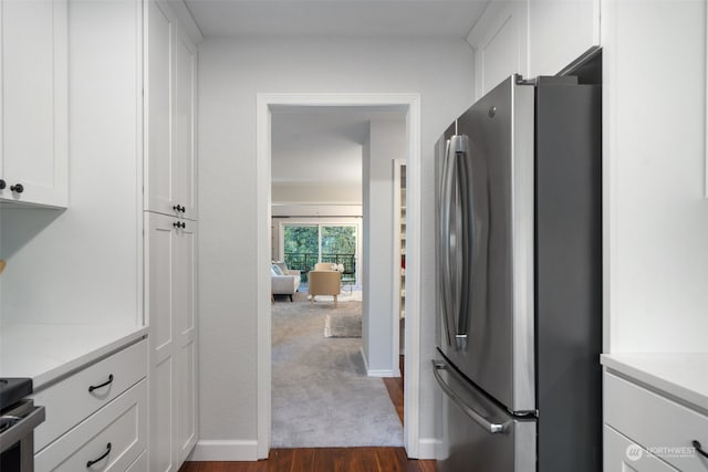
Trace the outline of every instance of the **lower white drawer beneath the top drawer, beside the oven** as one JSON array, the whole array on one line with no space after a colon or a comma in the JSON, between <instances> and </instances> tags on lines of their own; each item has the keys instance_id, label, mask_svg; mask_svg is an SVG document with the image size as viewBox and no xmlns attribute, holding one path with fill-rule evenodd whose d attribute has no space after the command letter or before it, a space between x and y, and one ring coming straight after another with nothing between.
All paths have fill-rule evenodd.
<instances>
[{"instance_id":1,"label":"lower white drawer beneath the top drawer, beside the oven","mask_svg":"<svg viewBox=\"0 0 708 472\"><path fill-rule=\"evenodd\" d=\"M125 472L146 450L146 409L142 380L35 454L35 472Z\"/></svg>"}]
</instances>

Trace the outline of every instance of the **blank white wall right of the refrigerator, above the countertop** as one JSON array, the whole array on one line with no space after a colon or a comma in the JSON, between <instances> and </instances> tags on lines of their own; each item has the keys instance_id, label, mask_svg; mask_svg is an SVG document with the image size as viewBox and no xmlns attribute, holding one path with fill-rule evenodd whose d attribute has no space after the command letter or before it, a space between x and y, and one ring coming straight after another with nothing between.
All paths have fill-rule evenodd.
<instances>
[{"instance_id":1,"label":"blank white wall right of the refrigerator, above the countertop","mask_svg":"<svg viewBox=\"0 0 708 472\"><path fill-rule=\"evenodd\" d=\"M608 350L707 352L706 2L603 2L602 40Z\"/></svg>"}]
</instances>

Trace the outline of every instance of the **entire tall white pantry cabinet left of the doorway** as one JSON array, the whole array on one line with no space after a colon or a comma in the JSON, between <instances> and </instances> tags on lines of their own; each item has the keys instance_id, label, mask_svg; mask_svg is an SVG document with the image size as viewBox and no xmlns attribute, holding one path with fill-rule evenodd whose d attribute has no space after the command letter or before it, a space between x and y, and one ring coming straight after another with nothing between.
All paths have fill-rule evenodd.
<instances>
[{"instance_id":1,"label":"entire tall white pantry cabinet left of the doorway","mask_svg":"<svg viewBox=\"0 0 708 472\"><path fill-rule=\"evenodd\" d=\"M176 472L197 440L197 52L169 4L144 8L149 470Z\"/></svg>"}]
</instances>

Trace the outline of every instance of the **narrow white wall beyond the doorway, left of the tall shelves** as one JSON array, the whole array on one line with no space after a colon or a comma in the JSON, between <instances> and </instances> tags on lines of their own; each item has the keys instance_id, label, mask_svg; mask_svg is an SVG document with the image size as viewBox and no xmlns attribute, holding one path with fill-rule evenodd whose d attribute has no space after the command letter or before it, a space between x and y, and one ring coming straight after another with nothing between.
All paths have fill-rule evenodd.
<instances>
[{"instance_id":1,"label":"narrow white wall beyond the doorway, left of the tall shelves","mask_svg":"<svg viewBox=\"0 0 708 472\"><path fill-rule=\"evenodd\" d=\"M364 162L364 293L363 352L369 375L396 376L393 336L398 328L394 317L394 181L393 159L405 159L405 119L372 119L368 156ZM397 294L396 294L397 296Z\"/></svg>"}]
</instances>

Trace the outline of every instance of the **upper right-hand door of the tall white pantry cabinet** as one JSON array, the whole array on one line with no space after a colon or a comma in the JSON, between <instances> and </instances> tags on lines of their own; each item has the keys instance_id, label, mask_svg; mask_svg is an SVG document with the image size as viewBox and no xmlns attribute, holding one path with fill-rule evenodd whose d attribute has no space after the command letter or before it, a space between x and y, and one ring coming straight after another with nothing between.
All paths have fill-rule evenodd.
<instances>
[{"instance_id":1,"label":"upper right-hand door of the tall white pantry cabinet","mask_svg":"<svg viewBox=\"0 0 708 472\"><path fill-rule=\"evenodd\" d=\"M184 29L177 28L175 45L175 134L173 139L174 201L186 210L183 217L197 219L197 160L195 111L197 96L197 50Z\"/></svg>"}]
</instances>

